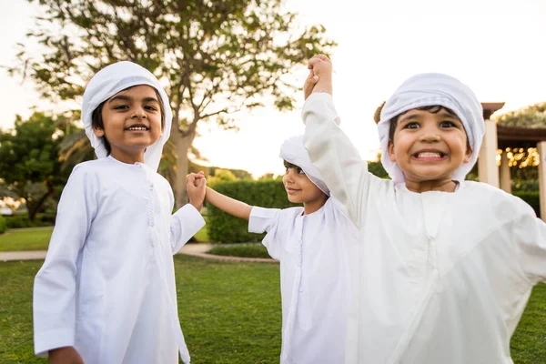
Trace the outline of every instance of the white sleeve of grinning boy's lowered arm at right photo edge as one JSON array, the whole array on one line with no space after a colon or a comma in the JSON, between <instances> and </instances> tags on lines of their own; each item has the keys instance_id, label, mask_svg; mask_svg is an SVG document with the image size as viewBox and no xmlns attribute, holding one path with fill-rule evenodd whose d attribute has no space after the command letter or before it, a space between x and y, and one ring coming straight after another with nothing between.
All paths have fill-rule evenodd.
<instances>
[{"instance_id":1,"label":"white sleeve of grinning boy's lowered arm at right photo edge","mask_svg":"<svg viewBox=\"0 0 546 364\"><path fill-rule=\"evenodd\" d=\"M514 238L519 248L521 269L531 284L546 281L546 223L536 217L531 207L516 220Z\"/></svg>"}]
</instances>

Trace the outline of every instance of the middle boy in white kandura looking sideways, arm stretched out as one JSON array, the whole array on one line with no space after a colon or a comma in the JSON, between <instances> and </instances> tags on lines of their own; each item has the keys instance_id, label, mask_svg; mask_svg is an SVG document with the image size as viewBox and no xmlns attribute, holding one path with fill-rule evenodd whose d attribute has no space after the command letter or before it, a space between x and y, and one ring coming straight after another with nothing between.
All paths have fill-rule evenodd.
<instances>
[{"instance_id":1,"label":"middle boy in white kandura looking sideways, arm stretched out","mask_svg":"<svg viewBox=\"0 0 546 364\"><path fill-rule=\"evenodd\" d=\"M281 364L341 363L349 302L349 258L357 230L330 197L309 161L301 136L280 148L288 200L303 207L250 207L207 187L207 202L248 220L248 231L267 231L262 243L280 261ZM190 176L198 178L197 175Z\"/></svg>"}]
</instances>

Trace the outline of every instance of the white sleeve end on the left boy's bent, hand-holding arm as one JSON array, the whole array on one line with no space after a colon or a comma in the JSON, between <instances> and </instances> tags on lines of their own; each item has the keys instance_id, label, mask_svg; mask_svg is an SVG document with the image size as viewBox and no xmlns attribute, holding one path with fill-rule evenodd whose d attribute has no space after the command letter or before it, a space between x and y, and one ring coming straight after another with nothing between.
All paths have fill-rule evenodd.
<instances>
[{"instance_id":1,"label":"white sleeve end on the left boy's bent, hand-holding arm","mask_svg":"<svg viewBox=\"0 0 546 364\"><path fill-rule=\"evenodd\" d=\"M191 204L180 207L171 219L171 248L177 254L187 241L205 226L205 219Z\"/></svg>"}]
</instances>

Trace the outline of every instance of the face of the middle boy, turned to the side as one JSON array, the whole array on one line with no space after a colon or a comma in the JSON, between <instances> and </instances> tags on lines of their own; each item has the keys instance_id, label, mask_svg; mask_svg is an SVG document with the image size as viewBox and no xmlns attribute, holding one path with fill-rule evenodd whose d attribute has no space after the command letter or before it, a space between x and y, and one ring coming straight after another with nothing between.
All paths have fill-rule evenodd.
<instances>
[{"instance_id":1,"label":"face of the middle boy, turned to the side","mask_svg":"<svg viewBox=\"0 0 546 364\"><path fill-rule=\"evenodd\" d=\"M325 199L324 192L299 167L288 165L282 182L287 190L288 201L292 203L311 204Z\"/></svg>"}]
</instances>

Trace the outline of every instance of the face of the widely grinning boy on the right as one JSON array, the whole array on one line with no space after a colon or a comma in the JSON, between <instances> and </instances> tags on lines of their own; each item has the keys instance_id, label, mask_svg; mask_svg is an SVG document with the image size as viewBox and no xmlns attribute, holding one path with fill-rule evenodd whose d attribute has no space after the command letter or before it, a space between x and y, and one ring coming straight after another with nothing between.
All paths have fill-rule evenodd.
<instances>
[{"instance_id":1,"label":"face of the widely grinning boy on the right","mask_svg":"<svg viewBox=\"0 0 546 364\"><path fill-rule=\"evenodd\" d=\"M404 172L406 181L426 182L450 179L471 150L459 117L445 109L438 113L411 109L399 116L389 158Z\"/></svg>"}]
</instances>

